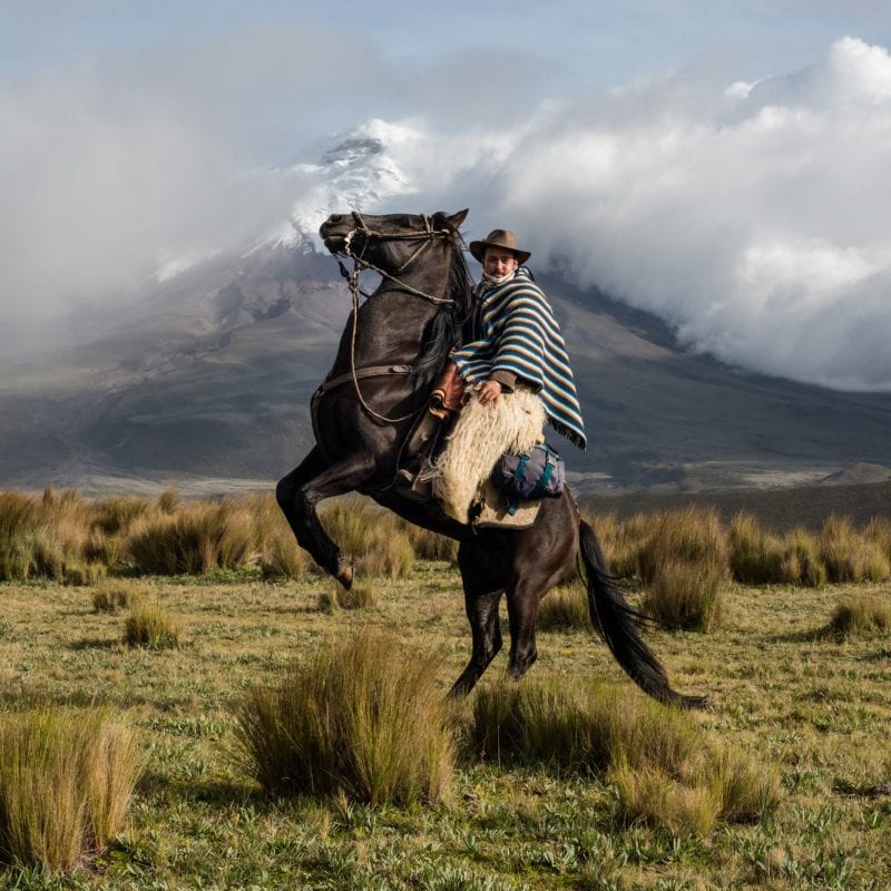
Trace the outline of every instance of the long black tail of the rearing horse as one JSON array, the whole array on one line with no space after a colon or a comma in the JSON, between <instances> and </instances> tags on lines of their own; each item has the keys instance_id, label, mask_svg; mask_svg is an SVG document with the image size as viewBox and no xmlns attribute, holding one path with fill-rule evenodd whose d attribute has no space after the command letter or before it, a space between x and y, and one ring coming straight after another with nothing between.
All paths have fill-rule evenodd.
<instances>
[{"instance_id":1,"label":"long black tail of the rearing horse","mask_svg":"<svg viewBox=\"0 0 891 891\"><path fill-rule=\"evenodd\" d=\"M626 674L644 693L659 702L674 703L683 708L705 705L705 697L685 696L672 689L665 669L640 637L639 629L648 619L625 600L618 580L606 570L594 529L585 520L579 520L579 552L588 577L591 623Z\"/></svg>"}]
</instances>

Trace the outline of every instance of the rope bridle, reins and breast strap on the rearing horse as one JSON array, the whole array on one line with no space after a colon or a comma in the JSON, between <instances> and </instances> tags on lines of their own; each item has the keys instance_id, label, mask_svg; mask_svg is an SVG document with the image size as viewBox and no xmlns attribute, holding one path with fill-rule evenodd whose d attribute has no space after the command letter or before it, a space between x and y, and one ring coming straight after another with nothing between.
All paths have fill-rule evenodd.
<instances>
[{"instance_id":1,"label":"rope bridle, reins and breast strap on the rearing horse","mask_svg":"<svg viewBox=\"0 0 891 891\"><path fill-rule=\"evenodd\" d=\"M457 301L453 297L437 297L433 294L428 294L424 291L420 291L417 287L403 282L398 275L403 274L409 266L411 266L422 254L427 251L430 245L437 238L449 238L452 237L454 234L451 229L434 229L433 225L430 221L430 217L427 214L421 214L421 218L424 222L424 229L423 232L414 232L412 229L407 229L402 232L376 232L375 229L370 228L365 221L362 218L362 215L353 210L352 212L353 221L355 222L355 226L346 233L343 239L343 249L339 251L339 254L343 254L346 257L351 257L353 261L353 271L347 272L346 267L343 265L341 261L337 261L341 275L346 280L346 283L350 288L350 295L353 303L353 331L352 336L350 340L350 374L349 375L341 375L340 378L335 378L333 381L327 381L322 384L322 386L317 391L317 395L321 395L324 390L330 390L334 386L340 385L341 383L345 383L346 381L352 381L353 386L355 388L356 396L359 396L359 402L362 408L370 414L372 418L375 418L379 421L384 423L400 423L401 421L407 421L409 418L413 418L420 413L421 410L410 411L408 414L403 414L399 418L388 418L385 414L380 414L379 412L374 411L374 409L369 405L365 401L365 398L362 395L362 390L359 386L359 378L368 378L374 376L376 374L392 374L392 373L400 373L400 374L413 374L415 369L412 365L381 365L381 366L372 366L356 370L355 366L355 341L356 341L356 332L359 330L359 295L362 294L363 296L368 297L369 295L365 294L359 287L359 274L363 270L371 270L372 272L376 272L383 278L388 278L389 281L393 282L395 285L399 286L401 291L405 291L409 294L413 294L414 296L422 297L423 300L430 301L430 303L437 305L444 305L444 304L454 304ZM353 238L356 234L361 234L365 238L365 243L362 247L362 251L359 254L353 252ZM404 260L399 267L394 271L396 275L393 273L386 272L386 270L382 270L379 266L375 266L371 261L365 260L364 253L365 248L369 246L372 238L379 238L382 241L388 242L420 242L418 247L412 251L407 260ZM447 272L448 276L448 272Z\"/></svg>"}]
</instances>

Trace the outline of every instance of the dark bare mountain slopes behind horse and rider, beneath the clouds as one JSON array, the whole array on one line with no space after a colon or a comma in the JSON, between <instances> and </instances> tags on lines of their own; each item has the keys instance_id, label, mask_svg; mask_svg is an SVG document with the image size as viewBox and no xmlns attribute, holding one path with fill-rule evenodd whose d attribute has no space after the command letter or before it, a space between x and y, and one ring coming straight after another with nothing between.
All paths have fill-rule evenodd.
<instances>
[{"instance_id":1,"label":"dark bare mountain slopes behind horse and rider, beneath the clouds","mask_svg":"<svg viewBox=\"0 0 891 891\"><path fill-rule=\"evenodd\" d=\"M581 488L685 490L891 463L891 398L742 373L682 351L656 317L539 275L578 379ZM190 478L274 482L312 444L309 402L349 295L305 244L217 258L4 368L0 486Z\"/></svg>"}]
</instances>

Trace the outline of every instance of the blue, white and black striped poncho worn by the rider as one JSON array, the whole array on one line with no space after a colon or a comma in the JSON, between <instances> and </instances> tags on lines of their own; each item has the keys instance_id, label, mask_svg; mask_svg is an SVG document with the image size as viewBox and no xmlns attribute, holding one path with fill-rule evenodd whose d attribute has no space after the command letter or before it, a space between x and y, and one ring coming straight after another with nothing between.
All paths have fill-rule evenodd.
<instances>
[{"instance_id":1,"label":"blue, white and black striped poncho worn by the rider","mask_svg":"<svg viewBox=\"0 0 891 891\"><path fill-rule=\"evenodd\" d=\"M587 444L585 422L562 334L545 293L520 266L502 285L480 288L478 340L453 356L469 384L512 372L545 404L550 425L570 442Z\"/></svg>"}]
</instances>

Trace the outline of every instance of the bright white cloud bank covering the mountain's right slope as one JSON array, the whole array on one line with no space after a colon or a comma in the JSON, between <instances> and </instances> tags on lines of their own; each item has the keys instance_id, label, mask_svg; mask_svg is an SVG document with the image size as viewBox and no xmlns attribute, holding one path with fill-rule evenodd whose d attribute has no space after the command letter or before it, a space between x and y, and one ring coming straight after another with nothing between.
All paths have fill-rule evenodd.
<instances>
[{"instance_id":1,"label":"bright white cloud bank covering the mountain's right slope","mask_svg":"<svg viewBox=\"0 0 891 891\"><path fill-rule=\"evenodd\" d=\"M844 38L795 75L703 74L545 105L463 151L444 137L435 170L428 134L402 164L469 204L476 236L515 228L533 267L657 313L692 350L891 391L888 50Z\"/></svg>"}]
</instances>

